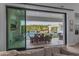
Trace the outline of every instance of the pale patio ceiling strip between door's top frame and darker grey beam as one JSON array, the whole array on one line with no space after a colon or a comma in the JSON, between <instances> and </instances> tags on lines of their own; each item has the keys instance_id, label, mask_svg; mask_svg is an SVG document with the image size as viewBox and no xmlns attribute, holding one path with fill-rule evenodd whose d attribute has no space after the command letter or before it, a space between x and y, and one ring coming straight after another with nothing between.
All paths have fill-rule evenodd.
<instances>
[{"instance_id":1,"label":"pale patio ceiling strip between door's top frame and darker grey beam","mask_svg":"<svg viewBox=\"0 0 79 59\"><path fill-rule=\"evenodd\" d=\"M43 18L54 18L54 19L64 19L64 14L59 13L48 13L48 12L38 12L38 11L26 11L27 16L43 17Z\"/></svg>"}]
</instances>

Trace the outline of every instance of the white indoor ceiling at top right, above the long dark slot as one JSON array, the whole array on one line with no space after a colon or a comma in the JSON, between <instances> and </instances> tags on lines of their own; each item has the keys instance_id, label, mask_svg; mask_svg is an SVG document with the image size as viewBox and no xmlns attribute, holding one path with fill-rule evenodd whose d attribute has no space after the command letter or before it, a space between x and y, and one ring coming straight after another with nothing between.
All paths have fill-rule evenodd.
<instances>
[{"instance_id":1,"label":"white indoor ceiling at top right, above the long dark slot","mask_svg":"<svg viewBox=\"0 0 79 59\"><path fill-rule=\"evenodd\" d=\"M79 3L35 3L35 4L74 9L76 12L79 12Z\"/></svg>"}]
</instances>

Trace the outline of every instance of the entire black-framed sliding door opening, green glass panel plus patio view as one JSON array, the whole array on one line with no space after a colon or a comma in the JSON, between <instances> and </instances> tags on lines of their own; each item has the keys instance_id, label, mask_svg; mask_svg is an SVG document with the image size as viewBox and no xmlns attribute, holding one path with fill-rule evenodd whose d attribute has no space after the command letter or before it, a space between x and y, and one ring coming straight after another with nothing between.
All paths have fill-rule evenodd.
<instances>
[{"instance_id":1,"label":"entire black-framed sliding door opening, green glass panel plus patio view","mask_svg":"<svg viewBox=\"0 0 79 59\"><path fill-rule=\"evenodd\" d=\"M66 44L66 14L7 7L7 50Z\"/></svg>"}]
</instances>

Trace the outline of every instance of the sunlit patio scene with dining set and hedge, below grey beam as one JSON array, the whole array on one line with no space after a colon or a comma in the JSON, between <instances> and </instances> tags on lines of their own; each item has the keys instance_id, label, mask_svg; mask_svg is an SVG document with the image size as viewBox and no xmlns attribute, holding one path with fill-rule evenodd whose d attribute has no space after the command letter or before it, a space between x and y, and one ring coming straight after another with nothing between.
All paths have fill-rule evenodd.
<instances>
[{"instance_id":1,"label":"sunlit patio scene with dining set and hedge, below grey beam","mask_svg":"<svg viewBox=\"0 0 79 59\"><path fill-rule=\"evenodd\" d=\"M30 23L29 23L30 22ZM27 48L37 48L48 45L63 43L63 22L26 22Z\"/></svg>"}]
</instances>

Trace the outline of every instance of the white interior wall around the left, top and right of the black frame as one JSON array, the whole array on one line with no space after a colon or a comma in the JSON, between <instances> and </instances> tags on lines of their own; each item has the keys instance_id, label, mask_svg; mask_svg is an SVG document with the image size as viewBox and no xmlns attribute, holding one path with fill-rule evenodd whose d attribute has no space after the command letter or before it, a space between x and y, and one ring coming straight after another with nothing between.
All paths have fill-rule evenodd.
<instances>
[{"instance_id":1,"label":"white interior wall around the left, top and right of the black frame","mask_svg":"<svg viewBox=\"0 0 79 59\"><path fill-rule=\"evenodd\" d=\"M58 10L53 8L21 5L21 4L0 4L0 50L6 50L6 9L5 9L6 5L67 13L67 43L68 45L76 43L76 40L74 39L75 38L74 30L72 32L69 31L69 20L73 20L74 22L75 19L74 11Z\"/></svg>"}]
</instances>

